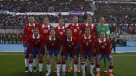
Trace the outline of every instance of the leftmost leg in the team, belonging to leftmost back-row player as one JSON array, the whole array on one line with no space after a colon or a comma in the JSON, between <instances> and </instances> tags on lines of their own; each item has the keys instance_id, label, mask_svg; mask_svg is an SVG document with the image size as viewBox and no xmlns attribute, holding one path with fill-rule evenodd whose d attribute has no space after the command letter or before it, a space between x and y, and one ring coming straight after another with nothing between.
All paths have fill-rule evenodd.
<instances>
[{"instance_id":1,"label":"leftmost leg in the team, belonging to leftmost back-row player","mask_svg":"<svg viewBox=\"0 0 136 76\"><path fill-rule=\"evenodd\" d=\"M28 52L28 47L27 45L24 45L24 53L25 53L25 72L28 72L28 65L29 65L29 52Z\"/></svg>"}]
</instances>

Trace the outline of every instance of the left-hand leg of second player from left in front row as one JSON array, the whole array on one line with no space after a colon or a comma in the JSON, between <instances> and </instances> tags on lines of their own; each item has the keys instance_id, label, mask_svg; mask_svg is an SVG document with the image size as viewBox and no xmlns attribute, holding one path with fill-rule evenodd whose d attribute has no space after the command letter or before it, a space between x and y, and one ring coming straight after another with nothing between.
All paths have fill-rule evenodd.
<instances>
[{"instance_id":1,"label":"left-hand leg of second player from left in front row","mask_svg":"<svg viewBox=\"0 0 136 76\"><path fill-rule=\"evenodd\" d=\"M51 58L52 58L53 51L48 50L48 56L47 56L47 73L46 76L49 76L51 73Z\"/></svg>"}]
</instances>

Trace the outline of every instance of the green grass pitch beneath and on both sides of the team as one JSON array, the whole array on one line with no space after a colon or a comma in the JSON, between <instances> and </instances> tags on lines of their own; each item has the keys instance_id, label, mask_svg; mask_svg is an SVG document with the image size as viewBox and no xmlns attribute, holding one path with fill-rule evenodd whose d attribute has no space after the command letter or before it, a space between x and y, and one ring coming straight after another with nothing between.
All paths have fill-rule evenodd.
<instances>
[{"instance_id":1,"label":"green grass pitch beneath and on both sides of the team","mask_svg":"<svg viewBox=\"0 0 136 76\"><path fill-rule=\"evenodd\" d=\"M44 58L46 59L46 58ZM116 53L113 54L114 76L136 76L136 53ZM52 64L54 67L54 64ZM102 65L101 65L102 66ZM89 67L88 67L89 72ZM44 62L44 74L46 73L46 63ZM24 72L23 53L0 53L0 76L26 76ZM68 73L67 73L68 75ZM78 76L82 74L79 73ZM33 76L38 76L38 72ZM52 73L51 76L56 76ZM70 73L73 76L73 73ZM90 76L87 73L87 76ZM101 72L101 76L107 76Z\"/></svg>"}]
</instances>

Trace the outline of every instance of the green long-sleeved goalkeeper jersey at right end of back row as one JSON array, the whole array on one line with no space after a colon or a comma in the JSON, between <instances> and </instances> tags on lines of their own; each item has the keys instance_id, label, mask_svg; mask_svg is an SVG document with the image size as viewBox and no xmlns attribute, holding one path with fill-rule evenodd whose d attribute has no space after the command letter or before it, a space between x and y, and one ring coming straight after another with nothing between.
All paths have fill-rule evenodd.
<instances>
[{"instance_id":1,"label":"green long-sleeved goalkeeper jersey at right end of back row","mask_svg":"<svg viewBox=\"0 0 136 76\"><path fill-rule=\"evenodd\" d=\"M97 26L97 35L98 36L100 36L100 33L102 31L105 31L106 32L106 37L109 37L109 35L110 35L110 29L109 29L109 25L108 24L103 24L103 25L99 24Z\"/></svg>"}]
</instances>

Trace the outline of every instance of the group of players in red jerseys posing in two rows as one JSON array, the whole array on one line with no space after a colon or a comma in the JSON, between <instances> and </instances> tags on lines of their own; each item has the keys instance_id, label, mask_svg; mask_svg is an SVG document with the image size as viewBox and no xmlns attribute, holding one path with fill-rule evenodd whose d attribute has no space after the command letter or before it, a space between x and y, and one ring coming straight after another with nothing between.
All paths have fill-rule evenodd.
<instances>
[{"instance_id":1,"label":"group of players in red jerseys posing in two rows","mask_svg":"<svg viewBox=\"0 0 136 76\"><path fill-rule=\"evenodd\" d=\"M68 56L74 60L74 76L77 76L79 63L81 63L82 76L86 76L85 62L87 59L91 61L90 74L92 76L100 76L100 60L102 57L107 58L109 62L108 75L113 76L111 43L109 38L106 38L106 31L101 31L100 35L96 37L90 27L86 26L81 31L81 26L77 23L77 20L77 17L74 17L73 23L66 28L63 26L64 20L60 19L59 26L54 28L49 25L48 18L44 19L44 23L47 26L34 23L33 17L29 18L30 24L33 25L28 24L24 27L23 36L24 47L27 48L25 49L25 67L26 72L29 71L29 75L32 75L32 71L36 70L36 55L38 55L39 75L43 76L43 57L46 53L46 76L50 76L53 55L57 63L57 76L60 76L61 66L62 76L65 76ZM80 61L78 58L80 58ZM69 61L68 63L71 62ZM94 74L94 67L96 67L96 75Z\"/></svg>"}]
</instances>

